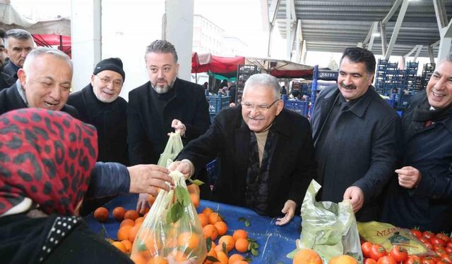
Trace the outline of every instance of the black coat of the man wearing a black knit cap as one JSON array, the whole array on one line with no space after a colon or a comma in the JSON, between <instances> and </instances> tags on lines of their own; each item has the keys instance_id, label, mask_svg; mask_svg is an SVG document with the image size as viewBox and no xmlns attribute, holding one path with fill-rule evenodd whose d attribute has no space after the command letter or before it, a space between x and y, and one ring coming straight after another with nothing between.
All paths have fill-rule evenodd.
<instances>
[{"instance_id":1,"label":"black coat of the man wearing a black knit cap","mask_svg":"<svg viewBox=\"0 0 452 264\"><path fill-rule=\"evenodd\" d=\"M102 103L88 84L81 91L71 94L68 103L80 113L80 120L97 129L97 161L117 162L129 165L127 152L127 102L118 97L112 103Z\"/></svg>"}]
</instances>

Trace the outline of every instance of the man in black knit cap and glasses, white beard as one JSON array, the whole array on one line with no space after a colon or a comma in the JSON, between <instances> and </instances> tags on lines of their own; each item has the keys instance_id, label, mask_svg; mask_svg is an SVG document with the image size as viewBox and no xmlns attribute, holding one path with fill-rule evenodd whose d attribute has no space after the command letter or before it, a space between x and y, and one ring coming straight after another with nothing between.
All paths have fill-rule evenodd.
<instances>
[{"instance_id":1,"label":"man in black knit cap and glasses, white beard","mask_svg":"<svg viewBox=\"0 0 452 264\"><path fill-rule=\"evenodd\" d=\"M120 58L106 58L94 68L90 83L71 94L68 103L80 114L80 120L97 129L97 161L129 165L127 153L127 102L119 93L126 74Z\"/></svg>"}]
</instances>

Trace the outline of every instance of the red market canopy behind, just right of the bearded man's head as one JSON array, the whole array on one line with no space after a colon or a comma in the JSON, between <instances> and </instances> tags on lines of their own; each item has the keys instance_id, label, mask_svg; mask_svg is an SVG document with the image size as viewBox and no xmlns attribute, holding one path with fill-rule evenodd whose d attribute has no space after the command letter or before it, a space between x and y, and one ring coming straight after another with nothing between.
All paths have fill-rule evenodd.
<instances>
[{"instance_id":1,"label":"red market canopy behind, just right of the bearded man's head","mask_svg":"<svg viewBox=\"0 0 452 264\"><path fill-rule=\"evenodd\" d=\"M237 65L244 64L245 57L220 57L212 54L191 55L191 73L208 73L215 79L231 79L237 75Z\"/></svg>"}]
</instances>

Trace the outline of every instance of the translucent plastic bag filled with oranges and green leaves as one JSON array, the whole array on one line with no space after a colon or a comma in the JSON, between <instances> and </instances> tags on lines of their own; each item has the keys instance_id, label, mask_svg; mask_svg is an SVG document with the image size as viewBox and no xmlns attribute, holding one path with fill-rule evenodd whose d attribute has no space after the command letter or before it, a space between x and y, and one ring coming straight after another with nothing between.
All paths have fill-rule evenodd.
<instances>
[{"instance_id":1,"label":"translucent plastic bag filled with oranges and green leaves","mask_svg":"<svg viewBox=\"0 0 452 264\"><path fill-rule=\"evenodd\" d=\"M135 263L152 263L165 259L169 263L203 263L207 256L206 240L196 208L186 189L181 172L169 174L175 189L160 190L133 242L131 259Z\"/></svg>"}]
</instances>

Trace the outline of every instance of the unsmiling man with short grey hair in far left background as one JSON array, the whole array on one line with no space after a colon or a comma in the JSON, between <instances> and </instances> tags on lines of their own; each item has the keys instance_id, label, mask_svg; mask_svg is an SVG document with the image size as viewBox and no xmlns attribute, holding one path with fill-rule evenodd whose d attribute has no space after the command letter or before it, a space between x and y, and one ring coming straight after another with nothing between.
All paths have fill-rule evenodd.
<instances>
[{"instance_id":1,"label":"unsmiling man with short grey hair in far left background","mask_svg":"<svg viewBox=\"0 0 452 264\"><path fill-rule=\"evenodd\" d=\"M13 29L6 32L6 54L9 61L5 65L5 73L18 79L18 70L23 67L25 58L34 49L32 35L26 30Z\"/></svg>"}]
</instances>

